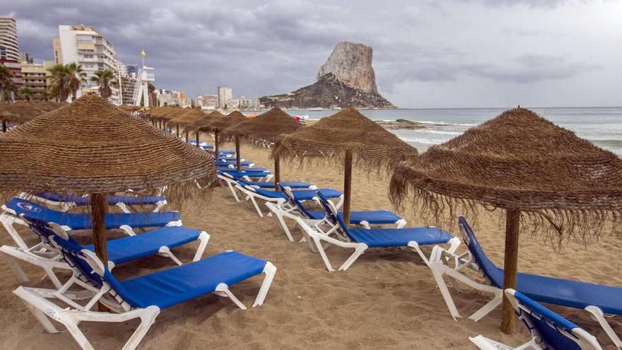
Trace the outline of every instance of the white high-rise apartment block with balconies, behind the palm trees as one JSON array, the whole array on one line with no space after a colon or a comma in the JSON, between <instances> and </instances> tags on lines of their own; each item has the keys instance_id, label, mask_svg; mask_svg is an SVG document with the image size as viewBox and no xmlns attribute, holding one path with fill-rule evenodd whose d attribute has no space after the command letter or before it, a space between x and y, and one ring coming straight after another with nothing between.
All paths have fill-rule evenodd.
<instances>
[{"instance_id":1,"label":"white high-rise apartment block with balconies, behind the palm trees","mask_svg":"<svg viewBox=\"0 0 622 350\"><path fill-rule=\"evenodd\" d=\"M97 84L90 81L95 71L110 69L119 74L119 62L115 60L115 47L103 35L97 33L90 25L59 25L59 37L52 40L54 59L59 64L76 62L86 72L86 83L78 96L86 93ZM59 52L57 52L59 50ZM119 89L112 88L112 103L119 104Z\"/></svg>"}]
</instances>

